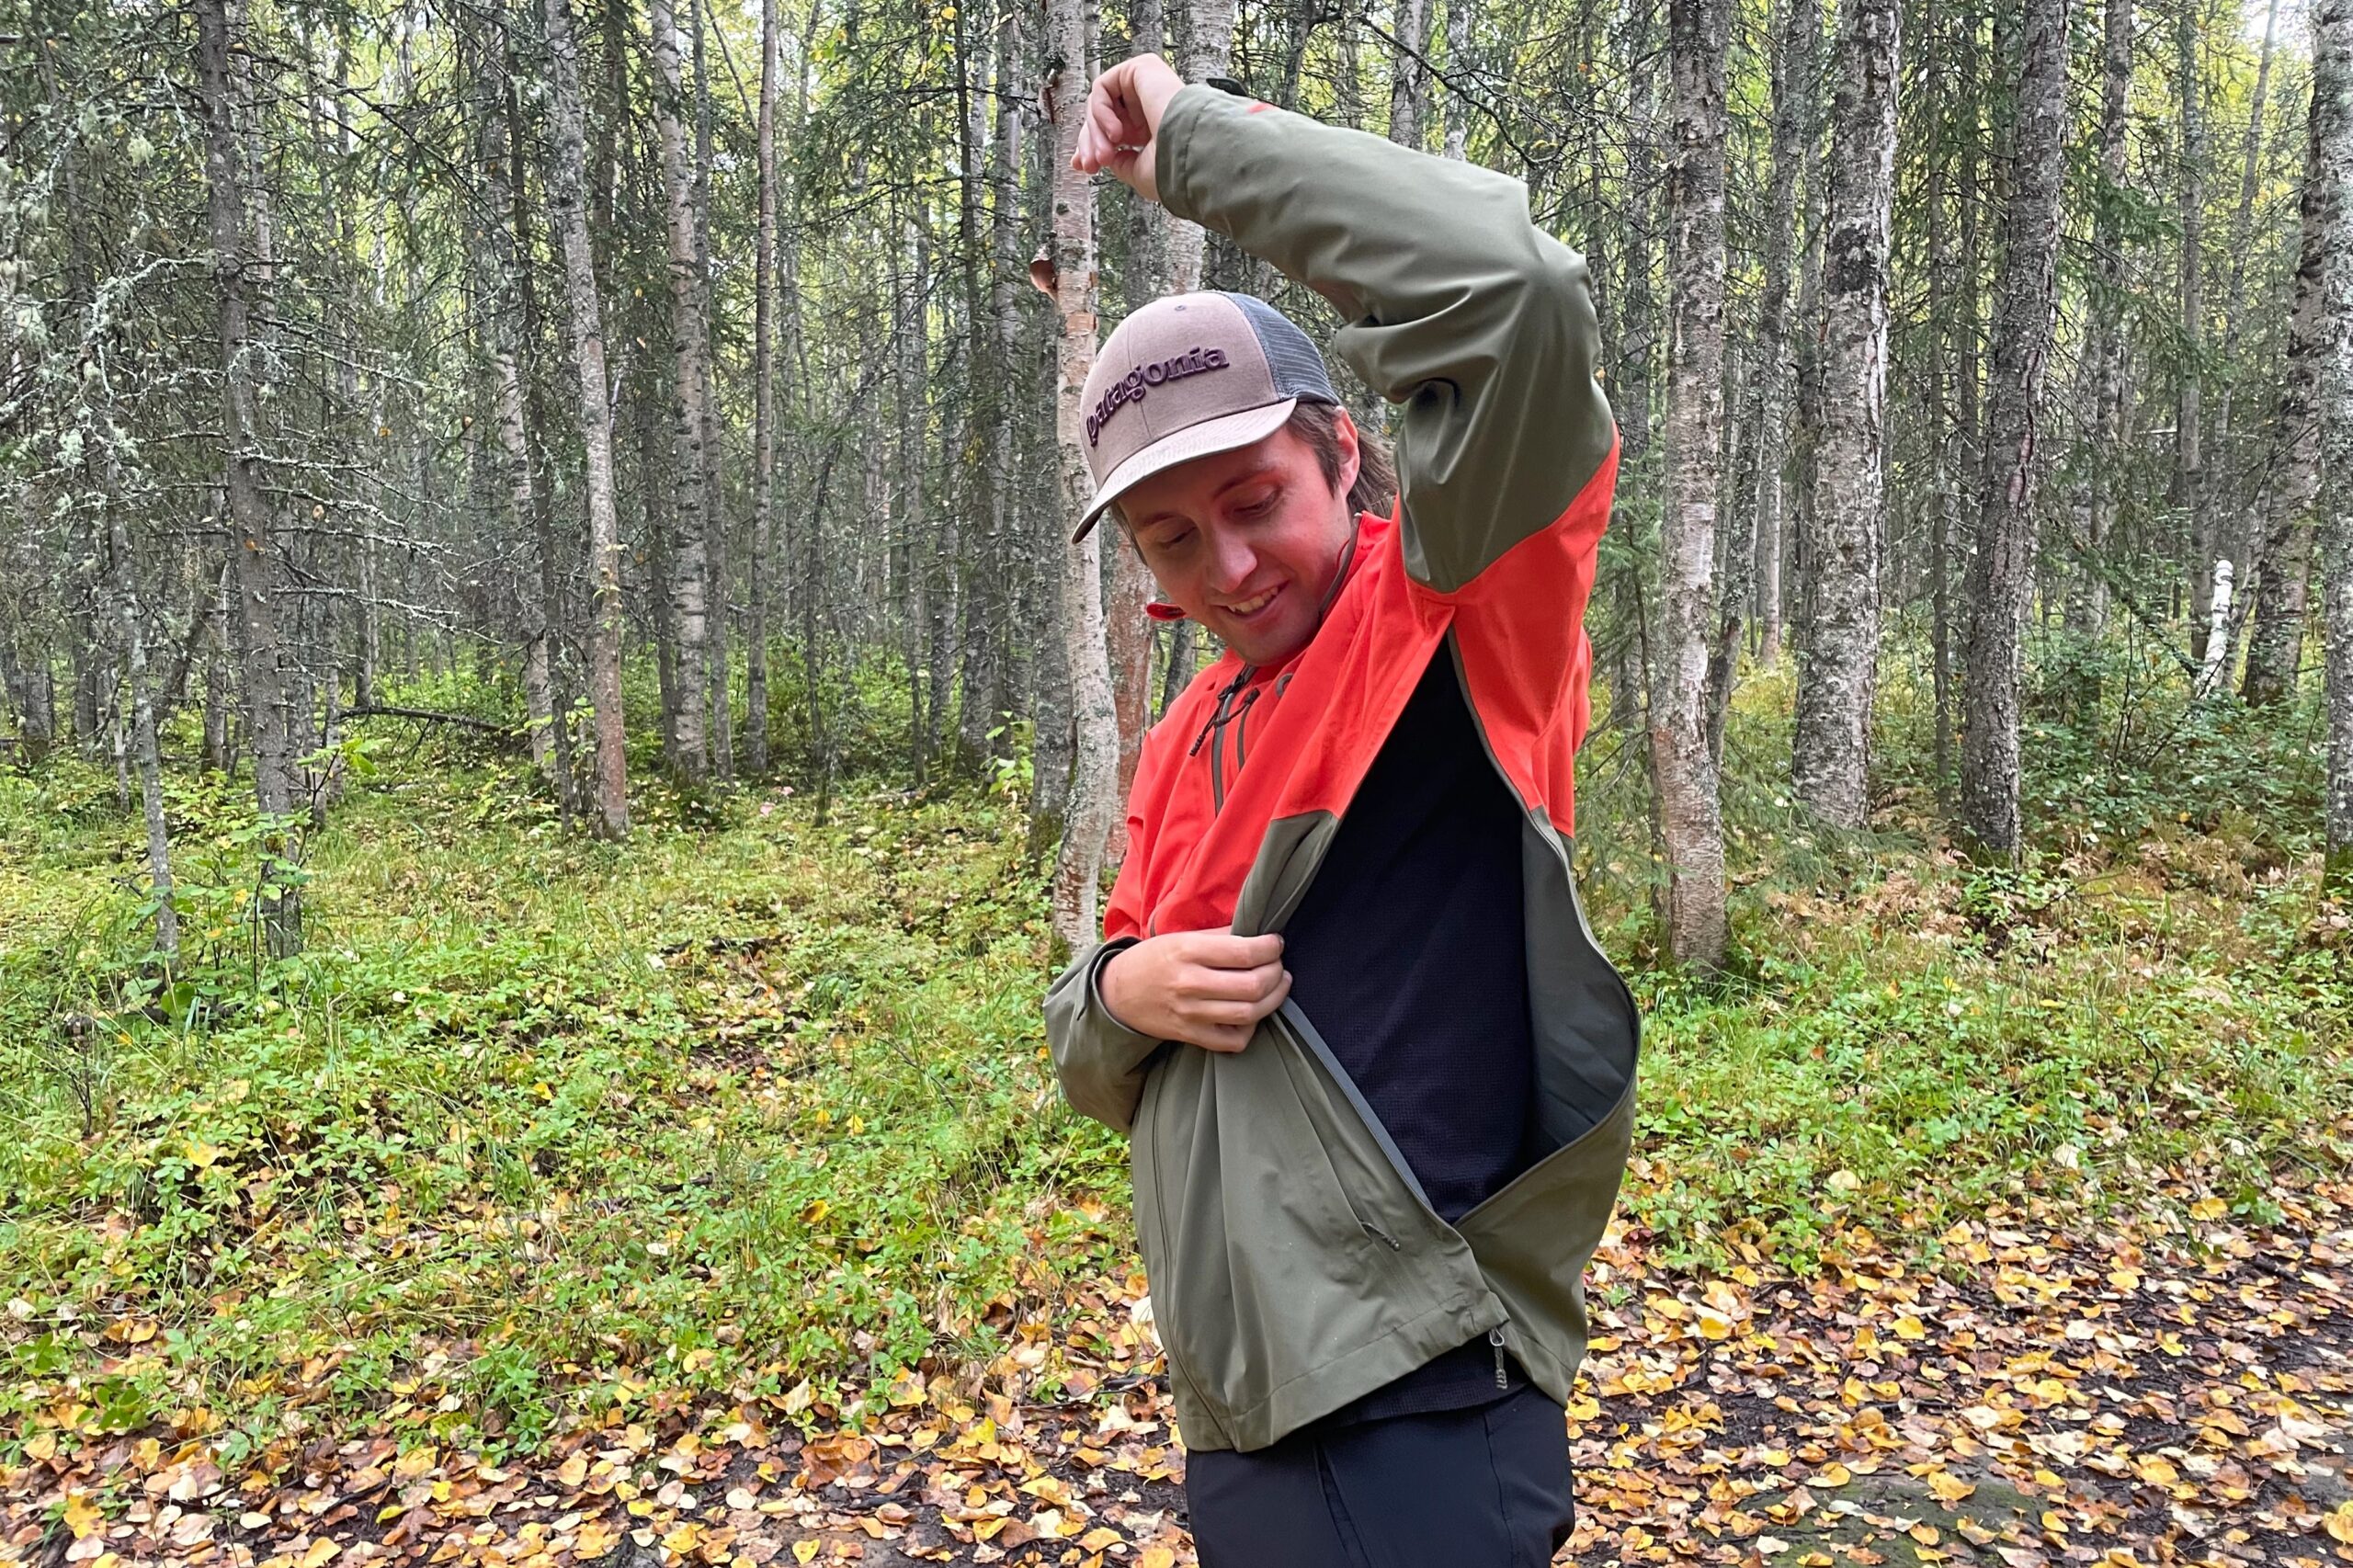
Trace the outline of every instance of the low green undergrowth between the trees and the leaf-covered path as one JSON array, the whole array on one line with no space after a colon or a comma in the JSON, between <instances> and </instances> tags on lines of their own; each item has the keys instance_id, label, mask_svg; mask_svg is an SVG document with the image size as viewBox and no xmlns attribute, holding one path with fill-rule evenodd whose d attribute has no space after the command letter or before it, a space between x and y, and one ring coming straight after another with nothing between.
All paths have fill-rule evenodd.
<instances>
[{"instance_id":1,"label":"low green undergrowth between the trees and the leaf-covered path","mask_svg":"<svg viewBox=\"0 0 2353 1568\"><path fill-rule=\"evenodd\" d=\"M854 786L819 826L649 784L609 848L515 763L362 772L287 963L238 916L242 793L174 782L174 975L113 779L0 777L0 1448L174 1417L231 1457L353 1422L527 1450L762 1391L856 1420L1134 1267L1125 1149L1045 1062L1012 798ZM1647 1015L1626 1215L1668 1264L2266 1220L2353 1156L2346 921L2297 845L2158 822L1981 871L1784 808L1734 800L1744 961L1708 986L1649 961L1605 789L1581 824Z\"/></svg>"}]
</instances>

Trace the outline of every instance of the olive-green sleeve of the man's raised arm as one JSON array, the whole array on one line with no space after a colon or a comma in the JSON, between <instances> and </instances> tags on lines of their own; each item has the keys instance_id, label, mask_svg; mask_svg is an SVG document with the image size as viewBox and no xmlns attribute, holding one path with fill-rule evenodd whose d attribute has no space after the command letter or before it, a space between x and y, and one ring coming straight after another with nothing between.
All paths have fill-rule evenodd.
<instances>
[{"instance_id":1,"label":"olive-green sleeve of the man's raised arm","mask_svg":"<svg viewBox=\"0 0 2353 1568\"><path fill-rule=\"evenodd\" d=\"M1569 511L1617 424L1586 261L1529 221L1518 179L1200 85L1158 141L1162 205L1329 299L1334 353L1405 405L1417 582L1452 593Z\"/></svg>"}]
</instances>

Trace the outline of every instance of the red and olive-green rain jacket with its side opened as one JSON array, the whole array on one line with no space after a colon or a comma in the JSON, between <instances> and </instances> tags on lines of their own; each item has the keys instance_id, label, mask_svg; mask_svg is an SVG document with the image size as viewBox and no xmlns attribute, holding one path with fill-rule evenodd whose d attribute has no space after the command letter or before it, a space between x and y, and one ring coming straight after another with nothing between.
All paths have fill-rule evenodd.
<instances>
[{"instance_id":1,"label":"red and olive-green rain jacket with its side opened","mask_svg":"<svg viewBox=\"0 0 2353 1568\"><path fill-rule=\"evenodd\" d=\"M1209 87L1158 139L1160 200L1329 299L1332 341L1405 405L1391 518L1358 518L1315 638L1228 652L1151 730L1106 942L1047 994L1068 1102L1129 1135L1136 1241L1188 1448L1264 1448L1485 1335L1558 1401L1584 1267L1633 1128L1638 1017L1569 871L1584 633L1617 424L1584 259L1520 181ZM1297 1003L1240 1052L1155 1041L1096 970L1141 937L1282 930L1424 666L1452 662L1522 805L1541 1158L1447 1224ZM1442 963L1445 932L1431 932Z\"/></svg>"}]
</instances>

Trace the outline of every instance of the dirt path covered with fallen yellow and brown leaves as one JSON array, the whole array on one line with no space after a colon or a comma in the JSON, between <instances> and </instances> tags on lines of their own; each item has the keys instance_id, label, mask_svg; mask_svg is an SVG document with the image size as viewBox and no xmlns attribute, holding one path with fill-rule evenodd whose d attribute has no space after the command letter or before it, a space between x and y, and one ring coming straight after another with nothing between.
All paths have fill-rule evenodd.
<instances>
[{"instance_id":1,"label":"dirt path covered with fallen yellow and brown leaves","mask_svg":"<svg viewBox=\"0 0 2353 1568\"><path fill-rule=\"evenodd\" d=\"M2162 1238L1967 1227L1958 1278L1845 1236L1819 1278L1689 1281L1614 1234L1560 1561L2353 1563L2353 1194L2275 1201L2278 1227ZM0 1559L1191 1563L1148 1307L1106 1283L1071 1321L991 1368L1061 1403L906 1377L866 1434L805 1436L788 1396L640 1413L529 1467L355 1436L224 1474L200 1436L49 1431L0 1471Z\"/></svg>"}]
</instances>

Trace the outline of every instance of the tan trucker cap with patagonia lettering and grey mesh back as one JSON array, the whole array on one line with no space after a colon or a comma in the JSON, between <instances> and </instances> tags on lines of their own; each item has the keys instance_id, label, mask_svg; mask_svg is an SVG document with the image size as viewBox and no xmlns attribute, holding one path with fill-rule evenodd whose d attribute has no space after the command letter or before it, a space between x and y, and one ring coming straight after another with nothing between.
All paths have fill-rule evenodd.
<instances>
[{"instance_id":1,"label":"tan trucker cap with patagonia lettering and grey mesh back","mask_svg":"<svg viewBox=\"0 0 2353 1568\"><path fill-rule=\"evenodd\" d=\"M1254 294L1169 294L1127 320L1087 377L1094 499L1071 544L1141 478L1282 428L1301 403L1339 403L1322 353Z\"/></svg>"}]
</instances>

